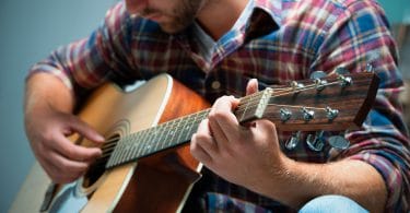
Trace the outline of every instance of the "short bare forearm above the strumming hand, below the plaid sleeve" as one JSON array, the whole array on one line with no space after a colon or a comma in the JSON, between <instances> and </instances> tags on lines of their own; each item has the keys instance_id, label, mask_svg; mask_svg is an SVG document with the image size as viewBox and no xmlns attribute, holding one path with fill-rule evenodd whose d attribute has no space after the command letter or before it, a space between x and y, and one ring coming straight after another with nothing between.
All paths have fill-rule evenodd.
<instances>
[{"instance_id":1,"label":"short bare forearm above the strumming hand, below the plaid sleeve","mask_svg":"<svg viewBox=\"0 0 410 213\"><path fill-rule=\"evenodd\" d=\"M74 107L72 92L49 73L34 73L26 81L24 97L25 116L38 110L52 108L58 111L71 113Z\"/></svg>"}]
</instances>

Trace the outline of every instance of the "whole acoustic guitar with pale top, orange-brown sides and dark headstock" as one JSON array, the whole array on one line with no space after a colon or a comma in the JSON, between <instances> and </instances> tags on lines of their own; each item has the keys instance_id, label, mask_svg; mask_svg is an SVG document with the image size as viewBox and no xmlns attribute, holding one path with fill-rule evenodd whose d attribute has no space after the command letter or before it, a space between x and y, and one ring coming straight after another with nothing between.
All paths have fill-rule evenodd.
<instances>
[{"instance_id":1,"label":"whole acoustic guitar with pale top, orange-brown sides and dark headstock","mask_svg":"<svg viewBox=\"0 0 410 213\"><path fill-rule=\"evenodd\" d=\"M320 75L245 96L234 114L241 123L269 119L278 131L353 130L377 86L373 72ZM103 85L79 113L106 138L102 157L69 185L52 184L36 163L10 212L179 212L201 177L202 165L188 145L209 107L167 74L131 92ZM70 139L95 145L80 135Z\"/></svg>"}]
</instances>

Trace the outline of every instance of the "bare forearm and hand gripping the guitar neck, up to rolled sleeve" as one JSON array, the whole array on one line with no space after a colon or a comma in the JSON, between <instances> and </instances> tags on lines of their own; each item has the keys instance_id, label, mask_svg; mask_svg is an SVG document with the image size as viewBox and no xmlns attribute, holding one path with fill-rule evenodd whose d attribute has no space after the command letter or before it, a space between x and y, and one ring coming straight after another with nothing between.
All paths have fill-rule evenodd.
<instances>
[{"instance_id":1,"label":"bare forearm and hand gripping the guitar neck, up to rolled sleeve","mask_svg":"<svg viewBox=\"0 0 410 213\"><path fill-rule=\"evenodd\" d=\"M383 212L386 189L374 167L352 159L292 161L280 151L274 125L259 120L241 127L231 113L236 105L233 97L218 99L192 137L192 155L211 170L295 209L321 194L343 194L371 212Z\"/></svg>"}]
</instances>

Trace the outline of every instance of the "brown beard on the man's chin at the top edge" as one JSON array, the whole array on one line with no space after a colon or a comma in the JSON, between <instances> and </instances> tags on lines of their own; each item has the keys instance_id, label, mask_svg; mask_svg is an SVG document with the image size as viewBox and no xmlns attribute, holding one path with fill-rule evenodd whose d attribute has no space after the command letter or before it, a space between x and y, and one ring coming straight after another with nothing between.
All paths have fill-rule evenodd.
<instances>
[{"instance_id":1,"label":"brown beard on the man's chin at the top edge","mask_svg":"<svg viewBox=\"0 0 410 213\"><path fill-rule=\"evenodd\" d=\"M159 20L157 24L164 32L175 34L184 31L194 22L203 3L204 0L179 0L169 11L148 7L141 12L141 15L161 14L163 19Z\"/></svg>"}]
</instances>

